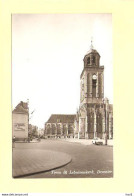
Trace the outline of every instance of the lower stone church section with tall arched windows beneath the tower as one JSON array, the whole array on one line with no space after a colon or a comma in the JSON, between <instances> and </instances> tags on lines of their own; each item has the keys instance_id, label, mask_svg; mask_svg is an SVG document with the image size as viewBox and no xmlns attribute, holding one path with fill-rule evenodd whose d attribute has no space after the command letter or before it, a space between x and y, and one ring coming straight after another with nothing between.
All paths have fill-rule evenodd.
<instances>
[{"instance_id":1,"label":"lower stone church section with tall arched windows beneath the tower","mask_svg":"<svg viewBox=\"0 0 134 196\"><path fill-rule=\"evenodd\" d=\"M106 102L107 101L107 102ZM78 138L113 138L113 108L105 99L104 103L83 104L79 110Z\"/></svg>"}]
</instances>

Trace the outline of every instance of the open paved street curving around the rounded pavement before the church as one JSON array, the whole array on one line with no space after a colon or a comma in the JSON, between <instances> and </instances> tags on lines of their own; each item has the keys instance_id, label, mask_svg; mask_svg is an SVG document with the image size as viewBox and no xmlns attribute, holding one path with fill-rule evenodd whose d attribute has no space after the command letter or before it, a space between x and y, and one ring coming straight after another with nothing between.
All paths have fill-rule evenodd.
<instances>
[{"instance_id":1,"label":"open paved street curving around the rounded pavement before the church","mask_svg":"<svg viewBox=\"0 0 134 196\"><path fill-rule=\"evenodd\" d=\"M40 149L66 153L72 161L56 170L25 178L110 178L113 177L113 147L83 145L65 140L41 140L39 143L16 143L19 149Z\"/></svg>"}]
</instances>

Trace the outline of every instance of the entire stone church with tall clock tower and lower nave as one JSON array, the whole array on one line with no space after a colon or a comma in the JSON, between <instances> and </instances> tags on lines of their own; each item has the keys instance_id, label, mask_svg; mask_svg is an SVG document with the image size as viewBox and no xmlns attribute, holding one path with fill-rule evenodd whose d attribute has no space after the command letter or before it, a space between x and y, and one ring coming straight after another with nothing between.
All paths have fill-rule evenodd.
<instances>
[{"instance_id":1,"label":"entire stone church with tall clock tower and lower nave","mask_svg":"<svg viewBox=\"0 0 134 196\"><path fill-rule=\"evenodd\" d=\"M71 136L83 139L95 137L112 139L113 105L104 98L104 66L100 66L100 55L93 49L92 44L83 61L84 68L80 76L80 106L71 121ZM62 121L60 116L63 115L55 115L55 118L52 118L52 115L47 121L45 132L48 137L51 137L54 129L61 130L61 132L58 131L58 136L61 137L64 127L68 127L68 122ZM60 122L57 122L58 118ZM60 128L58 128L59 125Z\"/></svg>"}]
</instances>

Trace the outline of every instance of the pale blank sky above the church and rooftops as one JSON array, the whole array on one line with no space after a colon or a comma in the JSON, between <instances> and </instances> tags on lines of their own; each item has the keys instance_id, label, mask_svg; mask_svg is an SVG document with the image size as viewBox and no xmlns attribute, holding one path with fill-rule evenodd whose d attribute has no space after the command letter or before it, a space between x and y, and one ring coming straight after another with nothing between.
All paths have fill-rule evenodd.
<instances>
[{"instance_id":1,"label":"pale blank sky above the church and rooftops","mask_svg":"<svg viewBox=\"0 0 134 196\"><path fill-rule=\"evenodd\" d=\"M91 39L113 103L111 14L13 14L12 108L29 99L30 123L39 128L51 114L75 114Z\"/></svg>"}]
</instances>

